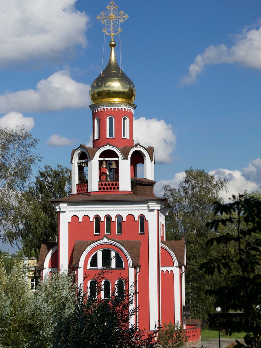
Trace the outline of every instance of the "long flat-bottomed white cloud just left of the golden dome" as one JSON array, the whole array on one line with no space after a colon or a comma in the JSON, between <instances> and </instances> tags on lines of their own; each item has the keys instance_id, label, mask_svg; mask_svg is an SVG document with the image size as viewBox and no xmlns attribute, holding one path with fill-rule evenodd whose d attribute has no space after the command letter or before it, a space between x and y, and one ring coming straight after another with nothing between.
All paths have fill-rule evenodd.
<instances>
[{"instance_id":1,"label":"long flat-bottomed white cloud just left of the golden dome","mask_svg":"<svg viewBox=\"0 0 261 348\"><path fill-rule=\"evenodd\" d=\"M87 108L91 104L89 85L76 82L68 71L53 73L35 89L0 95L0 112L38 112Z\"/></svg>"}]
</instances>

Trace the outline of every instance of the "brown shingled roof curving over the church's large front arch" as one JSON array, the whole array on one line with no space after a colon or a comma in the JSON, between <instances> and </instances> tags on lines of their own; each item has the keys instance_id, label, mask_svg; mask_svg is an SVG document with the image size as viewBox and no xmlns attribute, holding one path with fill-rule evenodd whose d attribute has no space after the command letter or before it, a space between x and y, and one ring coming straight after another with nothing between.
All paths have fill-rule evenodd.
<instances>
[{"instance_id":1,"label":"brown shingled roof curving over the church's large front arch","mask_svg":"<svg viewBox=\"0 0 261 348\"><path fill-rule=\"evenodd\" d=\"M102 240L102 239L98 239L98 240ZM108 239L119 243L127 250L127 252L129 253L132 259L133 267L136 267L140 264L140 247L141 247L140 240L118 240L113 238L108 238ZM90 244L95 242L97 242L97 240L76 240L74 244L74 248L73 248L73 261L72 261L73 267L79 267L79 262L80 262L82 253Z\"/></svg>"}]
</instances>

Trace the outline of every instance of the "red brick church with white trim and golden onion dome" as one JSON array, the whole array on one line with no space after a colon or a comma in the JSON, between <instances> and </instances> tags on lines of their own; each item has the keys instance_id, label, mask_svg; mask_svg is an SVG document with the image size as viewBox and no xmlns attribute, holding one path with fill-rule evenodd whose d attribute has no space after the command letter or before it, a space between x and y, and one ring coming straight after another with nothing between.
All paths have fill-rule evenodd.
<instances>
[{"instance_id":1,"label":"red brick church with white trim and golden onion dome","mask_svg":"<svg viewBox=\"0 0 261 348\"><path fill-rule=\"evenodd\" d=\"M113 4L108 7L115 14ZM105 15L98 17L105 20ZM93 147L72 150L72 193L52 201L58 241L42 245L39 268L43 280L50 272L70 269L92 295L95 274L108 268L97 296L108 298L114 287L128 292L126 287L135 283L140 329L152 331L155 323L170 321L185 328L185 240L166 241L165 216L171 207L154 194L153 147L133 142L136 89L117 63L115 33L110 35L109 62L90 86ZM141 166L144 175L138 177ZM122 278L128 279L126 285Z\"/></svg>"}]
</instances>

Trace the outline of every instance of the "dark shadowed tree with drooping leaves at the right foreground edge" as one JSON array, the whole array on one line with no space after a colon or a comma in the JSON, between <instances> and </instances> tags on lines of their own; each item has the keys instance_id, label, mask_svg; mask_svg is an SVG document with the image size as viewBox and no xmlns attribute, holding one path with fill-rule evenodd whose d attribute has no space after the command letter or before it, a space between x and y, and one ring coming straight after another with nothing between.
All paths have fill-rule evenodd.
<instances>
[{"instance_id":1,"label":"dark shadowed tree with drooping leaves at the right foreground edge","mask_svg":"<svg viewBox=\"0 0 261 348\"><path fill-rule=\"evenodd\" d=\"M228 270L231 275L225 285L208 293L215 296L215 305L223 312L243 311L240 329L247 332L246 346L261 347L261 201L249 195L239 195L237 199L233 196L231 203L216 202L214 214L216 219L207 226L214 231L222 226L227 231L209 239L207 245L233 245L237 253L223 253L201 265L205 274L222 275ZM231 272L233 267L238 268L236 274ZM238 331L238 324L225 324L227 333Z\"/></svg>"}]
</instances>

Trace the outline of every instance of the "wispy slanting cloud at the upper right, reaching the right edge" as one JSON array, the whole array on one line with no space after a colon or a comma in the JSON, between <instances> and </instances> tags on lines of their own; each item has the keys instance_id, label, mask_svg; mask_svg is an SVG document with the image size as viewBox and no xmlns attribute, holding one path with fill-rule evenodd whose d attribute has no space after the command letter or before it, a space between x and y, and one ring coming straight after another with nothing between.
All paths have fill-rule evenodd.
<instances>
[{"instance_id":1,"label":"wispy slanting cloud at the upper right, reaching the right edge","mask_svg":"<svg viewBox=\"0 0 261 348\"><path fill-rule=\"evenodd\" d=\"M189 66L189 73L181 78L181 84L195 83L198 74L209 64L238 63L249 68L261 69L261 27L245 29L235 38L236 43L230 48L226 45L211 45L203 54L198 54L194 63Z\"/></svg>"}]
</instances>

